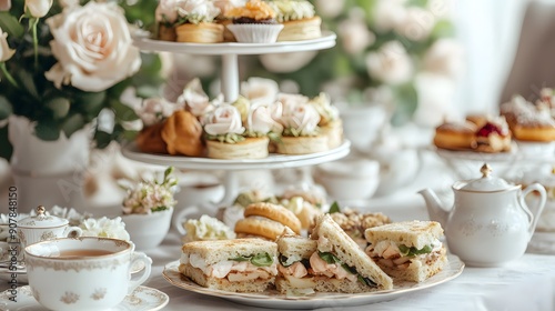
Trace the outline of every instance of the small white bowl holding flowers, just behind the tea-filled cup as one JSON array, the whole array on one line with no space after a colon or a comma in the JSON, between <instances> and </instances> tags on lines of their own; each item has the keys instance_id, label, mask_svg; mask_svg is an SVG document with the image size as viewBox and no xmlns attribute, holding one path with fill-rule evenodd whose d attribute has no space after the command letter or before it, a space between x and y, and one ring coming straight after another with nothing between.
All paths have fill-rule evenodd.
<instances>
[{"instance_id":1,"label":"small white bowl holding flowers, just behind the tea-filled cup","mask_svg":"<svg viewBox=\"0 0 555 311\"><path fill-rule=\"evenodd\" d=\"M170 231L173 208L151 214L124 214L121 217L125 223L131 242L135 250L153 249L164 240Z\"/></svg>"}]
</instances>

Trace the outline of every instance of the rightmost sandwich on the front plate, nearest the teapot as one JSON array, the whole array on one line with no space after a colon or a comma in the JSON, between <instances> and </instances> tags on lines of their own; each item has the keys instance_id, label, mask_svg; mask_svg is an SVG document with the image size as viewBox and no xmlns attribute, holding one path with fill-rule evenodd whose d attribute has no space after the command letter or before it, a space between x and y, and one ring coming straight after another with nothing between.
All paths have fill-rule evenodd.
<instances>
[{"instance_id":1,"label":"rightmost sandwich on the front plate, nearest the teapot","mask_svg":"<svg viewBox=\"0 0 555 311\"><path fill-rule=\"evenodd\" d=\"M403 221L366 229L365 252L395 280L422 282L447 264L435 221Z\"/></svg>"}]
</instances>

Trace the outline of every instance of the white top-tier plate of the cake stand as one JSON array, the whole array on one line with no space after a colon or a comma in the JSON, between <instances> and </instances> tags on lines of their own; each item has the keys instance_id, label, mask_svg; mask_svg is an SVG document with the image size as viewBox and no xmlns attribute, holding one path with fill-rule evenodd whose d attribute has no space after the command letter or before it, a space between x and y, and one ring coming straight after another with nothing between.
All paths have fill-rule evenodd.
<instances>
[{"instance_id":1,"label":"white top-tier plate of the cake stand","mask_svg":"<svg viewBox=\"0 0 555 311\"><path fill-rule=\"evenodd\" d=\"M223 56L223 54L264 54L313 51L329 49L335 46L335 33L323 31L322 37L300 40L280 41L274 43L188 43L150 39L137 36L133 43L141 50L168 51L175 53Z\"/></svg>"}]
</instances>

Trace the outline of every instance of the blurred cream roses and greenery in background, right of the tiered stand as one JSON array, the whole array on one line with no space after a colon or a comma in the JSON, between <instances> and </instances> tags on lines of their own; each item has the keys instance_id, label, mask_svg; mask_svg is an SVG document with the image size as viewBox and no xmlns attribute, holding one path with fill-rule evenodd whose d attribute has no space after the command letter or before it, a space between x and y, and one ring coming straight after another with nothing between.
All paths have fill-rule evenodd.
<instances>
[{"instance_id":1,"label":"blurred cream roses and greenery in background, right of the tiered stand","mask_svg":"<svg viewBox=\"0 0 555 311\"><path fill-rule=\"evenodd\" d=\"M454 92L463 51L452 38L447 1L311 2L323 29L337 34L337 44L249 58L242 74L276 80L281 88L294 86L307 97L324 91L333 102L351 107L383 103L395 111L394 123L407 121L418 101L445 106L450 100L446 94Z\"/></svg>"}]
</instances>

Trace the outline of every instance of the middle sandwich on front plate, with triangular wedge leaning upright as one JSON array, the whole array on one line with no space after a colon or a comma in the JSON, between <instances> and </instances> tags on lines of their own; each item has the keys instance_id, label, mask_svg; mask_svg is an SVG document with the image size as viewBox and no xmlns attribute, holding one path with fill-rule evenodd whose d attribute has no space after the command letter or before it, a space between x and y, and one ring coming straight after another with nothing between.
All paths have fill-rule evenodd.
<instances>
[{"instance_id":1,"label":"middle sandwich on front plate, with triangular wedge leaning upright","mask_svg":"<svg viewBox=\"0 0 555 311\"><path fill-rule=\"evenodd\" d=\"M275 285L282 293L391 290L392 279L335 223L322 214L311 239L280 237L276 241L280 275Z\"/></svg>"}]
</instances>

